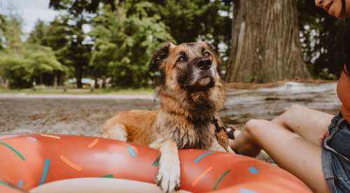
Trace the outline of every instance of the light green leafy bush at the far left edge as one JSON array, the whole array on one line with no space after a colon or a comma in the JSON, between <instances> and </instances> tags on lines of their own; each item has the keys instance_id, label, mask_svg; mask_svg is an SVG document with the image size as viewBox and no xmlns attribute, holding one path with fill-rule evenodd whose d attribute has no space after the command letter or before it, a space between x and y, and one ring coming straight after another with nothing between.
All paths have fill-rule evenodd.
<instances>
[{"instance_id":1,"label":"light green leafy bush at the far left edge","mask_svg":"<svg viewBox=\"0 0 350 193\"><path fill-rule=\"evenodd\" d=\"M22 26L18 16L3 17L1 39L3 49L0 51L0 76L9 80L11 88L26 88L31 82L43 74L66 72L57 61L52 49L21 40Z\"/></svg>"}]
</instances>

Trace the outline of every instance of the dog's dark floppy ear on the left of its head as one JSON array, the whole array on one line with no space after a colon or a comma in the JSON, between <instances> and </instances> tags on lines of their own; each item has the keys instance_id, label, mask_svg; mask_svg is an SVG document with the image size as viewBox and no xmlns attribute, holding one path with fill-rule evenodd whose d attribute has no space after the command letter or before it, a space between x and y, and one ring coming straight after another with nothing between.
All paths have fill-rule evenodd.
<instances>
[{"instance_id":1,"label":"dog's dark floppy ear on the left of its head","mask_svg":"<svg viewBox=\"0 0 350 193\"><path fill-rule=\"evenodd\" d=\"M148 66L149 72L158 72L160 71L160 65L162 65L162 62L168 58L169 56L169 49L171 46L174 46L172 43L167 43L155 51L153 53L153 56L151 58L151 62Z\"/></svg>"}]
</instances>

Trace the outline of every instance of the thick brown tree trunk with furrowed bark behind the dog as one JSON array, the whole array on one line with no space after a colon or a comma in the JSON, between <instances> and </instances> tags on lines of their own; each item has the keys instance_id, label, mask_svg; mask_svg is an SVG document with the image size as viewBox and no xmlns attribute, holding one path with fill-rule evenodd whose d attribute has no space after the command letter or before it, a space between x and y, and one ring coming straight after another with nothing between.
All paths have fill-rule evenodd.
<instances>
[{"instance_id":1,"label":"thick brown tree trunk with furrowed bark behind the dog","mask_svg":"<svg viewBox=\"0 0 350 193\"><path fill-rule=\"evenodd\" d=\"M307 79L296 0L235 0L229 82Z\"/></svg>"}]
</instances>

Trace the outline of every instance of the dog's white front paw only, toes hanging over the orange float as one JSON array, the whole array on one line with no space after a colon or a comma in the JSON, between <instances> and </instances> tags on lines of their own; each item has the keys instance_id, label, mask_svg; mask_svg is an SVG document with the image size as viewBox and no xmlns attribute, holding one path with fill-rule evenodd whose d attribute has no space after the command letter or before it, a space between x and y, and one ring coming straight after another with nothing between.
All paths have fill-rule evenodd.
<instances>
[{"instance_id":1,"label":"dog's white front paw only, toes hanging over the orange float","mask_svg":"<svg viewBox=\"0 0 350 193\"><path fill-rule=\"evenodd\" d=\"M155 182L163 192L174 192L180 190L180 162L164 161L160 159L158 173Z\"/></svg>"}]
</instances>

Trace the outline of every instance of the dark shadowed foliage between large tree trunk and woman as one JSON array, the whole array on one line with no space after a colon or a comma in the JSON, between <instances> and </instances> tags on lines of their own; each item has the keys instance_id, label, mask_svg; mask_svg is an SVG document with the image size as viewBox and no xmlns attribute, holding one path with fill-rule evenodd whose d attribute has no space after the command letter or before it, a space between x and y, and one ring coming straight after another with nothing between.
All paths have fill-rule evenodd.
<instances>
[{"instance_id":1,"label":"dark shadowed foliage between large tree trunk and woman","mask_svg":"<svg viewBox=\"0 0 350 193\"><path fill-rule=\"evenodd\" d=\"M297 2L304 60L314 77L332 79L332 74L339 75L344 65L342 44L350 45L350 42L343 42L342 36L350 29L350 20L328 15L314 1Z\"/></svg>"}]
</instances>

